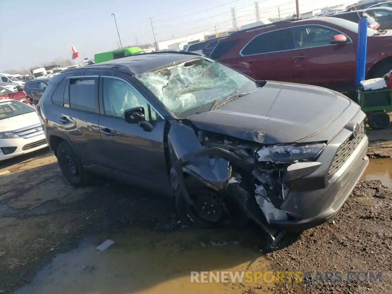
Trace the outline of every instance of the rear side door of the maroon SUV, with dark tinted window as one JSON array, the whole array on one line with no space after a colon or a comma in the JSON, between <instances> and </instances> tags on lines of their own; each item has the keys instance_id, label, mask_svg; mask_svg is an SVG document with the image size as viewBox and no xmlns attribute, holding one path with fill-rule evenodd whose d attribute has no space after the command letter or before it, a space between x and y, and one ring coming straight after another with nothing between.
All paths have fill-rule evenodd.
<instances>
[{"instance_id":1,"label":"rear side door of the maroon SUV, with dark tinted window","mask_svg":"<svg viewBox=\"0 0 392 294\"><path fill-rule=\"evenodd\" d=\"M233 64L229 61L229 65L255 80L292 82L295 64L290 49L293 48L293 40L287 32L287 29L279 29L254 36L240 50L241 61L233 60Z\"/></svg>"}]
</instances>

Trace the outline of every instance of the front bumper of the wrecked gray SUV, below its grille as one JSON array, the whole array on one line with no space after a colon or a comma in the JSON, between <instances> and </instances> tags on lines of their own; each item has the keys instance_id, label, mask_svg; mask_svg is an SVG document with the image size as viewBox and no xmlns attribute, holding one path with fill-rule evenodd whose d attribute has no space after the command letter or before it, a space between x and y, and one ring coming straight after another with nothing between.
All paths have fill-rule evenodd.
<instances>
[{"instance_id":1,"label":"front bumper of the wrecked gray SUV, below its grille","mask_svg":"<svg viewBox=\"0 0 392 294\"><path fill-rule=\"evenodd\" d=\"M366 156L368 138L359 143L356 150L350 155L342 167L323 186L321 183L328 170L322 168L309 176L288 182L291 186L287 199L282 203L281 209L286 211L291 220L270 220L270 225L286 231L303 231L321 225L333 218L343 206L351 191L354 189L369 163ZM330 157L323 153L319 161ZM301 169L301 164L298 169ZM328 165L327 165L328 167ZM294 168L293 168L294 171Z\"/></svg>"}]
</instances>

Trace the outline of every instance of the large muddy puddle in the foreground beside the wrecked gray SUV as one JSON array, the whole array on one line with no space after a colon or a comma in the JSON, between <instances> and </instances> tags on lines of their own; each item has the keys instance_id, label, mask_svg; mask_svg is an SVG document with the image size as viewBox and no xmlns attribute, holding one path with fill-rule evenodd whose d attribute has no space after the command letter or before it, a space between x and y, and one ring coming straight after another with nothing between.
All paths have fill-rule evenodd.
<instances>
[{"instance_id":1,"label":"large muddy puddle in the foreground beside the wrecked gray SUV","mask_svg":"<svg viewBox=\"0 0 392 294\"><path fill-rule=\"evenodd\" d=\"M255 250L252 240L244 243L249 236L238 230L111 232L58 254L14 293L270 293L273 285L263 282L191 283L191 271L268 270L269 261ZM96 250L106 239L115 243L102 252Z\"/></svg>"}]
</instances>

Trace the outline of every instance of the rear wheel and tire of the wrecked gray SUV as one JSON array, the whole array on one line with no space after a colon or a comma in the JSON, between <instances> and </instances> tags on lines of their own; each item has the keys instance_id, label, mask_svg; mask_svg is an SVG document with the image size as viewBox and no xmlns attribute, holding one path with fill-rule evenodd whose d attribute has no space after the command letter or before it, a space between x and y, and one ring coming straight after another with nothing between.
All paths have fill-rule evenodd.
<instances>
[{"instance_id":1,"label":"rear wheel and tire of the wrecked gray SUV","mask_svg":"<svg viewBox=\"0 0 392 294\"><path fill-rule=\"evenodd\" d=\"M83 187L86 184L86 174L82 162L67 142L58 145L56 157L67 181L75 187Z\"/></svg>"}]
</instances>

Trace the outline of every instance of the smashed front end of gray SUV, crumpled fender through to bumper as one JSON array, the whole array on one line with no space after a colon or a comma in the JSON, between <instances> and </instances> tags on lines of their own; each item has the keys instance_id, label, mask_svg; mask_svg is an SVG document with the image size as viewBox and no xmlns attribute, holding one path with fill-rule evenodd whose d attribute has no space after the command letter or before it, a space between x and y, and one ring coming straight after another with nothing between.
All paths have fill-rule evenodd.
<instances>
[{"instance_id":1,"label":"smashed front end of gray SUV, crumpled fender through to bumper","mask_svg":"<svg viewBox=\"0 0 392 294\"><path fill-rule=\"evenodd\" d=\"M350 131L341 131L328 142L317 161L260 163L255 149L250 148L253 151L247 156L243 146L235 149L226 140L208 145L203 132L196 134L190 123L175 122L168 133L171 184L191 206L184 174L229 194L238 209L273 239L282 231L315 227L338 213L368 165L368 138L363 132L334 168L334 160L341 157L339 148L351 140L350 136Z\"/></svg>"}]
</instances>

